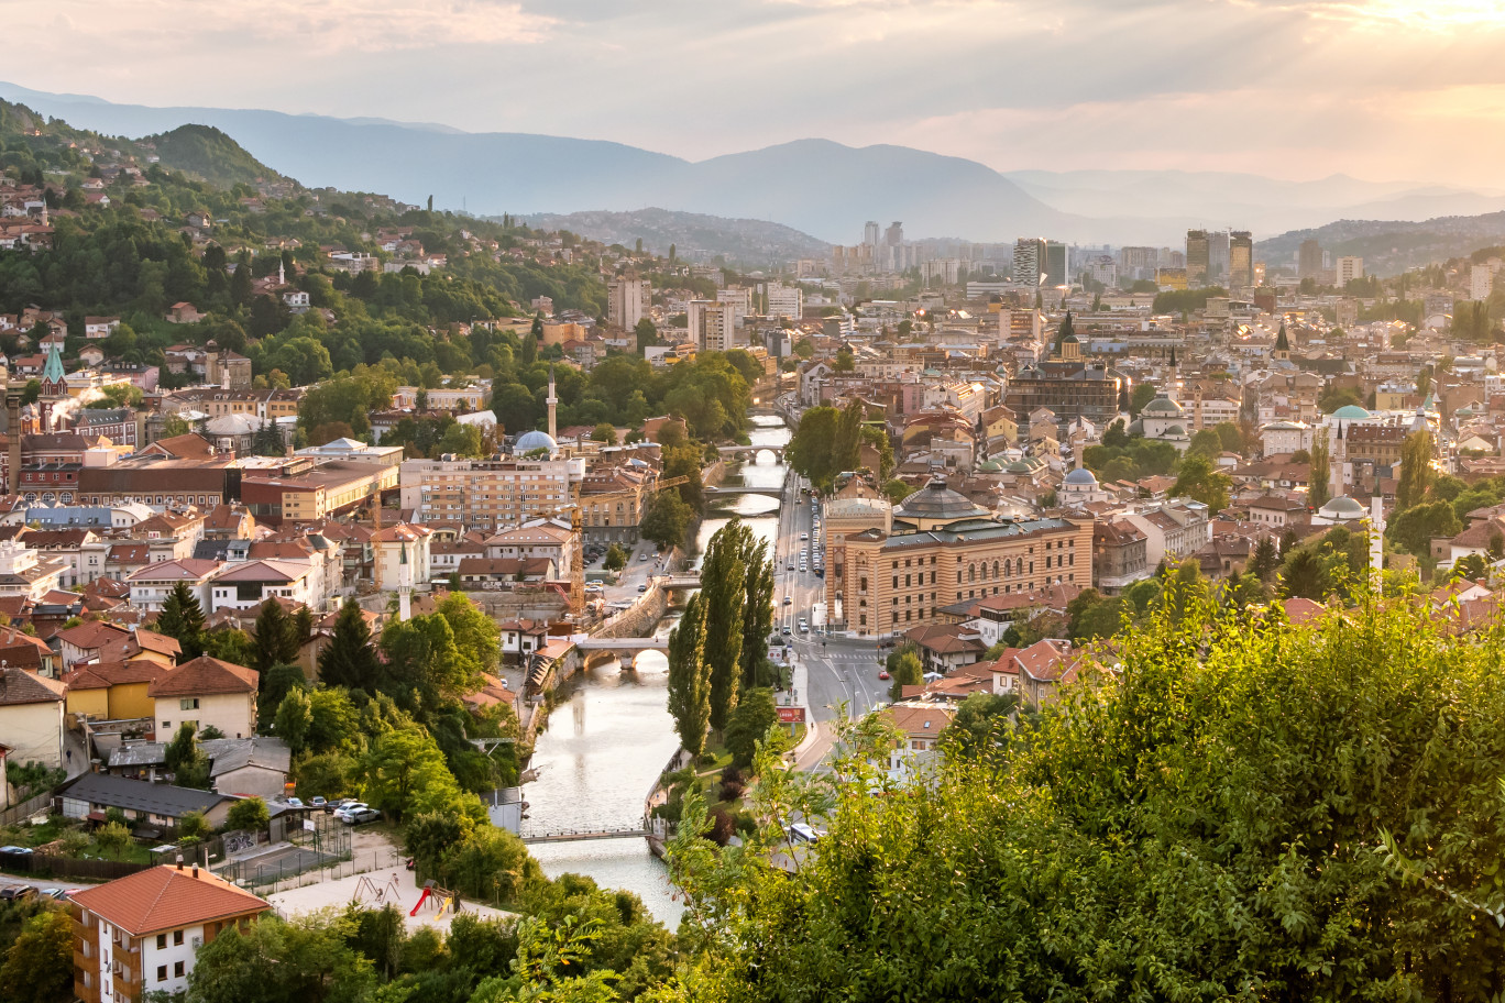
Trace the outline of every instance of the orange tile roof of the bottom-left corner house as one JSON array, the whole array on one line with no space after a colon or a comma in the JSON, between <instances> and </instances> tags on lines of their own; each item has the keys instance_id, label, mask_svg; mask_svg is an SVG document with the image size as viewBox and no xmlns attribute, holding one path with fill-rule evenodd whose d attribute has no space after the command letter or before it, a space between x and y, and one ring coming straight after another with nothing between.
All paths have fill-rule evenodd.
<instances>
[{"instance_id":1,"label":"orange tile roof of the bottom-left corner house","mask_svg":"<svg viewBox=\"0 0 1505 1003\"><path fill-rule=\"evenodd\" d=\"M254 916L268 904L205 869L152 868L92 889L72 901L132 937L212 920Z\"/></svg>"}]
</instances>

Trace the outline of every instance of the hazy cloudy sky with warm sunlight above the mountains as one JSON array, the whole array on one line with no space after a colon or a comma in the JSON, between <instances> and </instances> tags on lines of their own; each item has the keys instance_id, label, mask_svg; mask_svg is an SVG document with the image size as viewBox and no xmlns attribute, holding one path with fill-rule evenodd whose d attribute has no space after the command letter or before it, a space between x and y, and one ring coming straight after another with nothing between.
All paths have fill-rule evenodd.
<instances>
[{"instance_id":1,"label":"hazy cloudy sky with warm sunlight above the mountains","mask_svg":"<svg viewBox=\"0 0 1505 1003\"><path fill-rule=\"evenodd\" d=\"M116 102L691 159L828 137L1001 170L1505 188L1505 0L0 0L0 15L26 39L0 78Z\"/></svg>"}]
</instances>

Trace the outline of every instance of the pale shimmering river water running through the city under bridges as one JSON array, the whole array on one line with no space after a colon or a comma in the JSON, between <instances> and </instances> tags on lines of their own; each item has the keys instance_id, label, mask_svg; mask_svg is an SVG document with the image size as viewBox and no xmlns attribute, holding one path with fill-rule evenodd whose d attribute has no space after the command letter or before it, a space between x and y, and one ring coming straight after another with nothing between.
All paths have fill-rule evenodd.
<instances>
[{"instance_id":1,"label":"pale shimmering river water running through the city under bridges","mask_svg":"<svg viewBox=\"0 0 1505 1003\"><path fill-rule=\"evenodd\" d=\"M783 418L754 417L748 438L756 447L783 447L790 439ZM743 465L740 477L728 475L722 484L780 487L786 474L774 454L763 453L756 463ZM698 553L731 516L772 541L778 534L778 499L765 495L712 502L695 540L697 567ZM677 618L670 611L656 633L668 636ZM537 779L524 788L530 829L614 829L643 818L649 789L679 749L667 708L667 675L664 656L647 651L638 656L632 672L608 662L564 684L548 731L533 750ZM584 874L602 887L635 892L670 929L679 925L683 905L674 898L664 863L649 853L644 839L534 844L528 850L545 874Z\"/></svg>"}]
</instances>

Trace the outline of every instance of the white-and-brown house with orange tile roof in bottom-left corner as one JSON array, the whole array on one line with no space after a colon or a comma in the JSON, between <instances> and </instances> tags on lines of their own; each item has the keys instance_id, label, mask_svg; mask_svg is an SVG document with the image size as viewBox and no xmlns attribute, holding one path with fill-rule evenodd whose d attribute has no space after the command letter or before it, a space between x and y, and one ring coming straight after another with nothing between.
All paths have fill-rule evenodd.
<instances>
[{"instance_id":1,"label":"white-and-brown house with orange tile roof in bottom-left corner","mask_svg":"<svg viewBox=\"0 0 1505 1003\"><path fill-rule=\"evenodd\" d=\"M269 908L208 869L182 865L81 889L69 901L74 995L84 1003L181 994L199 947Z\"/></svg>"}]
</instances>

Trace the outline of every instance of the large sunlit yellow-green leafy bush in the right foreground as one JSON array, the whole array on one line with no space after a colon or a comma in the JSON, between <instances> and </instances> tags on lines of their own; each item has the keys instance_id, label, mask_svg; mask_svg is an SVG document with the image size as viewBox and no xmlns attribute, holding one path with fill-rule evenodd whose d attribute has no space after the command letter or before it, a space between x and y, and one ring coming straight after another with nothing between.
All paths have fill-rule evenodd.
<instances>
[{"instance_id":1,"label":"large sunlit yellow-green leafy bush in the right foreground","mask_svg":"<svg viewBox=\"0 0 1505 1003\"><path fill-rule=\"evenodd\" d=\"M901 782L849 728L757 805L828 805L793 878L777 826L713 851L686 800L680 998L1491 998L1500 638L1187 612L1196 644L1154 618L993 756Z\"/></svg>"}]
</instances>

